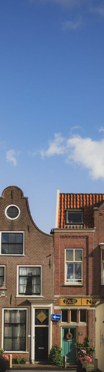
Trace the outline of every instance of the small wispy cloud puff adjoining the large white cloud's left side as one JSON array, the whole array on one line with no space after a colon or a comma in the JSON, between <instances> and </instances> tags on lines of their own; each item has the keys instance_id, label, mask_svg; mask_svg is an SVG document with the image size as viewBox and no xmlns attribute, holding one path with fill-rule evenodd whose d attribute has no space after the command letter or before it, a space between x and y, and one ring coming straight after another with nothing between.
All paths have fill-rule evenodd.
<instances>
[{"instance_id":1,"label":"small wispy cloud puff adjoining the large white cloud's left side","mask_svg":"<svg viewBox=\"0 0 104 372\"><path fill-rule=\"evenodd\" d=\"M65 148L64 148L64 145L62 144L64 141L64 138L60 135L60 133L55 133L54 137L55 139L53 142L49 141L48 150L40 151L42 157L44 156L49 157L49 156L53 156L56 154L57 155L64 154Z\"/></svg>"}]
</instances>

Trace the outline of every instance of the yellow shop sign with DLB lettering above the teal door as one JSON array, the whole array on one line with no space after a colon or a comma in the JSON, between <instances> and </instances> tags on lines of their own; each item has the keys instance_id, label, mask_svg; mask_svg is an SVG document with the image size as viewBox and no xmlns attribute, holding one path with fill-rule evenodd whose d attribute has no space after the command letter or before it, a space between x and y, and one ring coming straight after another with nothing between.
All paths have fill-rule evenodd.
<instances>
[{"instance_id":1,"label":"yellow shop sign with DLB lettering above the teal door","mask_svg":"<svg viewBox=\"0 0 104 372\"><path fill-rule=\"evenodd\" d=\"M95 302L101 298L87 297L87 298L60 298L60 306L94 306Z\"/></svg>"}]
</instances>

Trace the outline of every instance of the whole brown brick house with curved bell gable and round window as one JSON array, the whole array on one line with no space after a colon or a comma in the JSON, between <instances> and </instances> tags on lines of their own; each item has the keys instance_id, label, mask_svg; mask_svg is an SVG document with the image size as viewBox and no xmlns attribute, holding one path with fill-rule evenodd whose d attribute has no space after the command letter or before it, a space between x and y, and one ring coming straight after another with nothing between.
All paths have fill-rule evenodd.
<instances>
[{"instance_id":1,"label":"whole brown brick house with curved bell gable and round window","mask_svg":"<svg viewBox=\"0 0 104 372\"><path fill-rule=\"evenodd\" d=\"M0 346L27 361L47 360L52 343L53 235L34 223L19 187L0 198Z\"/></svg>"}]
</instances>

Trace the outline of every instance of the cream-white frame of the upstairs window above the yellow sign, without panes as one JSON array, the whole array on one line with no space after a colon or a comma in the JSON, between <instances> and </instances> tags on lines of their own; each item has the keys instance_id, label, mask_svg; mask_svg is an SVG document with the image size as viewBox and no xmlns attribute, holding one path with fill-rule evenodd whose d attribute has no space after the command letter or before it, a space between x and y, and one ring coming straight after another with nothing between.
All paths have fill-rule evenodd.
<instances>
[{"instance_id":1,"label":"cream-white frame of the upstairs window above the yellow sign, without panes","mask_svg":"<svg viewBox=\"0 0 104 372\"><path fill-rule=\"evenodd\" d=\"M82 250L82 261L75 261L75 250ZM66 250L73 250L74 251L74 258L73 261L66 261ZM81 280L80 282L74 282L74 279L72 279L72 282L67 281L67 262L69 263L81 263ZM76 280L76 279L75 279ZM82 286L83 285L83 249L82 248L66 248L65 249L65 285L77 285L77 286Z\"/></svg>"}]
</instances>

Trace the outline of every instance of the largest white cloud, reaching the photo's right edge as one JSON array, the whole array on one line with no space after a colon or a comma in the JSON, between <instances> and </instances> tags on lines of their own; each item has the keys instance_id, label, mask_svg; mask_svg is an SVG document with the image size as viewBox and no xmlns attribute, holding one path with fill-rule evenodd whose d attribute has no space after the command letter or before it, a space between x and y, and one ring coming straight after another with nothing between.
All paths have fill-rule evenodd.
<instances>
[{"instance_id":1,"label":"largest white cloud, reaching the photo's right edge","mask_svg":"<svg viewBox=\"0 0 104 372\"><path fill-rule=\"evenodd\" d=\"M41 150L41 156L66 155L67 163L74 161L79 166L89 170L93 179L104 179L104 139L93 141L79 135L63 138L55 134L55 140L50 142L48 149Z\"/></svg>"}]
</instances>

